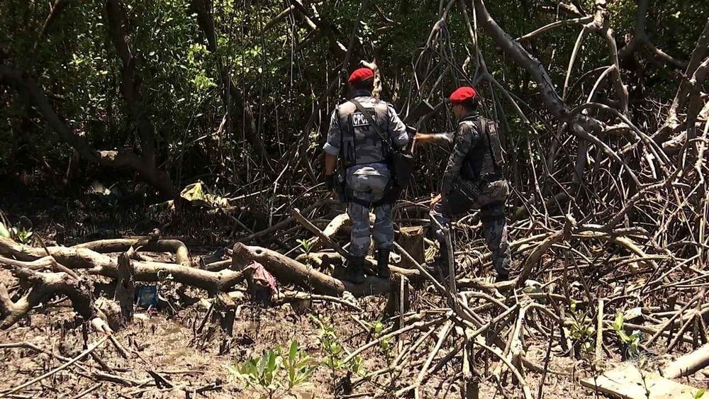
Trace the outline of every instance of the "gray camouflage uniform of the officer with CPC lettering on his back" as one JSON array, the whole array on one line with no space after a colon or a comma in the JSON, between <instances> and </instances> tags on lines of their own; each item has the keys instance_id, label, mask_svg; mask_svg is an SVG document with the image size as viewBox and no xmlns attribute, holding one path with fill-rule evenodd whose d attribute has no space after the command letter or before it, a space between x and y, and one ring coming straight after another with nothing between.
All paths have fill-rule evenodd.
<instances>
[{"instance_id":1,"label":"gray camouflage uniform of the officer with CPC lettering on his back","mask_svg":"<svg viewBox=\"0 0 709 399\"><path fill-rule=\"evenodd\" d=\"M396 148L408 144L406 126L389 103L374 99L366 90L355 91L354 99L367 111L374 111L379 129L389 135L390 142ZM384 198L386 185L391 178L385 163L384 148L381 137L369 125L367 116L357 111L354 103L347 101L335 108L323 150L340 157L347 168L347 186L354 197L347 203L347 213L352 220L350 253L353 257L364 257L369 251L369 208L372 203ZM379 249L389 249L394 240L391 204L378 204L374 207L374 213L374 242Z\"/></svg>"}]
</instances>

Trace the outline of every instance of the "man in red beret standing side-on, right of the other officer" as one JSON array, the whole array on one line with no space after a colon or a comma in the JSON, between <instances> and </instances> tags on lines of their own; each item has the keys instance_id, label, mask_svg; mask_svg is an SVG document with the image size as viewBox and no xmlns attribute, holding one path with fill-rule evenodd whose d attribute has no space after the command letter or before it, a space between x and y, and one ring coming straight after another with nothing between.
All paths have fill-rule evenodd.
<instances>
[{"instance_id":1,"label":"man in red beret standing side-on, right of the other officer","mask_svg":"<svg viewBox=\"0 0 709 399\"><path fill-rule=\"evenodd\" d=\"M496 281L510 276L510 246L507 240L505 201L509 186L503 175L502 147L497 125L476 113L476 91L463 86L450 96L454 116L459 120L453 137L453 150L443 175L440 196L432 201L433 216L441 225L449 225L453 216L479 209L485 239L492 252ZM435 223L434 223L435 225ZM437 266L447 277L445 236L440 229L435 235L441 255Z\"/></svg>"}]
</instances>

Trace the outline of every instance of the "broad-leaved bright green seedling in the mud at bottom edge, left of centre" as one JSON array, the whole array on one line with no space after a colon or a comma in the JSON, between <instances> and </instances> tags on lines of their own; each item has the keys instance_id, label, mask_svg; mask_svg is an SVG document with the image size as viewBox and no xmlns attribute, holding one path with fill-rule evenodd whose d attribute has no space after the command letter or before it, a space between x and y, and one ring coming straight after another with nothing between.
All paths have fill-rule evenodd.
<instances>
[{"instance_id":1,"label":"broad-leaved bright green seedling in the mud at bottom edge, left of centre","mask_svg":"<svg viewBox=\"0 0 709 399\"><path fill-rule=\"evenodd\" d=\"M317 362L293 341L287 353L281 347L265 350L261 356L229 365L227 369L245 383L245 388L254 388L262 398L274 399L308 384L317 367Z\"/></svg>"}]
</instances>

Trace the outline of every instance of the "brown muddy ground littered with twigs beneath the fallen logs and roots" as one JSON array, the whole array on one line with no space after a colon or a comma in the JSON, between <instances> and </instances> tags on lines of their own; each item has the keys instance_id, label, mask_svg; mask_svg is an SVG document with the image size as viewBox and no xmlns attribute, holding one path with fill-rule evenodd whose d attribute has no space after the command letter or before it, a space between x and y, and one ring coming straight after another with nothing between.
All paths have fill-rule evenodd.
<instances>
[{"instance_id":1,"label":"brown muddy ground littered with twigs beneath the fallen logs and roots","mask_svg":"<svg viewBox=\"0 0 709 399\"><path fill-rule=\"evenodd\" d=\"M9 201L10 200L10 201ZM76 242L99 238L141 234L160 225L168 235L182 235L195 258L230 243L230 227L223 221L205 218L207 222L192 225L180 218L165 214L150 214L141 208L107 205L87 196L81 201L61 201L41 198L39 202L13 201L10 196L0 200L0 209L13 223L24 223L35 235L49 243L72 245ZM197 220L199 218L191 218ZM37 245L37 242L35 242ZM148 254L157 259L168 260L167 254ZM17 290L16 280L8 271L0 271L0 282ZM101 281L97 281L101 282ZM106 282L106 281L104 281ZM248 296L237 300L233 337L220 332L218 324L205 317L208 304L206 294L187 290L182 295L176 287L164 283L159 287L162 301L155 309L138 308L132 324L116 332L116 344L104 342L91 356L86 356L72 366L32 383L16 391L11 398L259 398L268 397L262 390L245 387L235 378L228 366L241 364L251 356L260 356L264 350L289 347L296 340L299 347L315 361L327 356L320 336L322 325L331 325L334 337L347 351L368 342L373 335L367 328L377 320L384 326L382 310L384 297L368 297L358 300L362 312L336 303L313 303L303 308L302 303L285 303L263 307L252 303ZM281 287L286 289L288 287ZM16 292L16 291L15 291ZM186 305L185 298L198 300ZM201 301L199 301L202 299ZM189 300L187 300L189 302ZM442 305L441 299L427 287L418 288L413 295L412 310L424 310ZM204 322L201 330L199 327ZM357 321L359 320L359 322ZM90 327L77 320L67 300L55 300L33 310L29 317L0 332L0 344L23 344L23 347L0 348L0 392L16 388L33 380L81 354L101 336L91 332ZM403 340L413 335L403 335ZM26 345L30 344L30 345ZM389 356L396 356L398 342L389 343ZM435 339L426 344L432 348ZM527 383L537 395L542 379L547 353L547 342L530 337L525 342L527 359ZM582 388L578 381L596 371L617 366L621 354L613 345L604 347L610 360L594 362L591 356L574 359L563 353L562 348L552 347L544 377L541 398L596 398L597 393ZM659 349L658 349L659 351ZM122 353L125 352L125 353ZM423 356L423 355L422 355ZM359 374L335 370L320 364L309 383L292 390L287 395L281 391L272 397L299 398L371 398L386 395L390 389L381 386L390 377L385 373L379 378L347 389L359 376L386 366L386 350L381 345L364 352ZM391 358L389 358L391 359ZM645 369L659 369L669 359L661 352L645 352L642 362ZM476 363L476 370L493 367L484 361ZM422 390L424 398L456 398L460 396L461 369L459 359L453 359ZM537 369L535 371L535 369ZM152 374L149 372L153 372ZM395 381L404 383L415 379L415 371L404 370ZM281 378L281 381L284 381ZM510 376L506 376L506 391L510 398L521 397ZM696 386L709 387L709 379L702 373L680 381ZM172 386L172 388L170 388ZM502 398L496 384L483 380L481 398ZM1 395L0 395L1 396ZM411 395L413 397L413 395ZM408 396L407 396L408 397ZM689 398L688 398L689 399Z\"/></svg>"}]
</instances>

